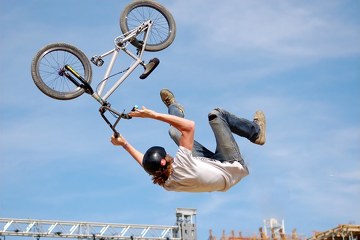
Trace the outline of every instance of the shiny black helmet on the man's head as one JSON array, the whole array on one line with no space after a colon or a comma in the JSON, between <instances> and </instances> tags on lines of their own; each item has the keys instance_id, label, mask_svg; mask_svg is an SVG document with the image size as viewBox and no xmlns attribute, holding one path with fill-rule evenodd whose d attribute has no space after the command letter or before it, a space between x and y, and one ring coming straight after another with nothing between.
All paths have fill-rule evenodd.
<instances>
[{"instance_id":1,"label":"shiny black helmet on the man's head","mask_svg":"<svg viewBox=\"0 0 360 240\"><path fill-rule=\"evenodd\" d=\"M164 161L166 157L166 151L163 147L151 147L149 148L143 158L142 165L147 173L154 175L160 168L166 166Z\"/></svg>"}]
</instances>

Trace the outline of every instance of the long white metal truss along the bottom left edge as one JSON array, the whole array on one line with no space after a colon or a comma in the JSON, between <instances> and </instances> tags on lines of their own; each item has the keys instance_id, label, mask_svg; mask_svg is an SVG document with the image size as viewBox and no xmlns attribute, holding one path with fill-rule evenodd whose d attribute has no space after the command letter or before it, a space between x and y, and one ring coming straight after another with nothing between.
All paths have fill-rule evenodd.
<instances>
[{"instance_id":1,"label":"long white metal truss along the bottom left edge","mask_svg":"<svg viewBox=\"0 0 360 240\"><path fill-rule=\"evenodd\" d=\"M94 240L177 240L178 226L0 218L0 236ZM4 237L5 238L5 237Z\"/></svg>"}]
</instances>

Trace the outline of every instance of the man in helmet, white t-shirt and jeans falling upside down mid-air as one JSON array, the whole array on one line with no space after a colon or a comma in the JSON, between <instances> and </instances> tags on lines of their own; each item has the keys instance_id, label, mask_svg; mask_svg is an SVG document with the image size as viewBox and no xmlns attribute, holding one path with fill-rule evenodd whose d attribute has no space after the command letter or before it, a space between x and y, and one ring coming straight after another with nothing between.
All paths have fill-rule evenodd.
<instances>
[{"instance_id":1,"label":"man in helmet, white t-shirt and jeans falling upside down mid-air","mask_svg":"<svg viewBox=\"0 0 360 240\"><path fill-rule=\"evenodd\" d=\"M239 118L220 108L212 110L209 124L216 140L215 152L194 141L195 123L184 118L184 108L168 89L160 92L169 114L142 107L129 115L151 118L170 124L169 134L179 146L175 157L164 148L155 146L145 154L139 152L123 136L111 142L124 149L152 176L154 184L168 191L211 192L227 191L249 174L233 134L259 145L265 143L265 115L257 111L253 121Z\"/></svg>"}]
</instances>

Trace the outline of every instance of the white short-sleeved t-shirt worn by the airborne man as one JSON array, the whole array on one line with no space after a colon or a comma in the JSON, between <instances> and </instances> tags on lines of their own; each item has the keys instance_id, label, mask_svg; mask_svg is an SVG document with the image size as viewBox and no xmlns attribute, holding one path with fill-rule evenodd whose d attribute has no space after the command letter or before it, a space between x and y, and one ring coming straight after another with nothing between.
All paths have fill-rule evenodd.
<instances>
[{"instance_id":1,"label":"white short-sleeved t-shirt worn by the airborne man","mask_svg":"<svg viewBox=\"0 0 360 240\"><path fill-rule=\"evenodd\" d=\"M193 157L190 150L181 146L174 158L173 170L164 188L177 192L225 192L249 174L237 161Z\"/></svg>"}]
</instances>

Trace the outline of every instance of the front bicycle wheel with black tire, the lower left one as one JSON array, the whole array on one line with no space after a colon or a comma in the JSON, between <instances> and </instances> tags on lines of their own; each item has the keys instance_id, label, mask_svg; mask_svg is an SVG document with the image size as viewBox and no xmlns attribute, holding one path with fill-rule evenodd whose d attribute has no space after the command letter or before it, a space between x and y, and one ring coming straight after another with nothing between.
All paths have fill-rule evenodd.
<instances>
[{"instance_id":1,"label":"front bicycle wheel with black tire, the lower left one","mask_svg":"<svg viewBox=\"0 0 360 240\"><path fill-rule=\"evenodd\" d=\"M52 43L40 49L31 63L31 76L40 91L58 100L74 99L85 92L60 73L66 64L91 83L92 69L86 55L70 44Z\"/></svg>"}]
</instances>

